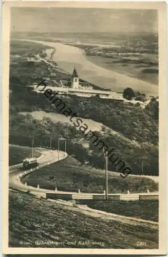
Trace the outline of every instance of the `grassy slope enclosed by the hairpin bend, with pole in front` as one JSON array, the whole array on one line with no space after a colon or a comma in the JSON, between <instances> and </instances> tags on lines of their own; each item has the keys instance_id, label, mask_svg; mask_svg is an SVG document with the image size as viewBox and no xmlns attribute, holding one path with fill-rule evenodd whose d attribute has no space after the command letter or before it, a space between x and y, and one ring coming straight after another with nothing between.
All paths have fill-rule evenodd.
<instances>
[{"instance_id":1,"label":"grassy slope enclosed by the hairpin bend, with pole in front","mask_svg":"<svg viewBox=\"0 0 168 257\"><path fill-rule=\"evenodd\" d=\"M46 172L47 171L47 172ZM74 158L68 156L66 159L53 163L49 166L33 172L24 178L28 185L37 184L42 188L70 191L70 189L80 189L82 192L102 192L105 188L105 172L86 166ZM108 173L109 193L130 193L157 191L158 185L149 178L127 176L122 178L120 174Z\"/></svg>"}]
</instances>

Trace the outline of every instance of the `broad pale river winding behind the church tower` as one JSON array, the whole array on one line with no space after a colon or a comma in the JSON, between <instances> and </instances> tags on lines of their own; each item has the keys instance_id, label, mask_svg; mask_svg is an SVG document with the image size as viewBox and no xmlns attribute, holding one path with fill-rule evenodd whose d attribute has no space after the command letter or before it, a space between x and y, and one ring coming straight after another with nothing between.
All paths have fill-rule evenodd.
<instances>
[{"instance_id":1,"label":"broad pale river winding behind the church tower","mask_svg":"<svg viewBox=\"0 0 168 257\"><path fill-rule=\"evenodd\" d=\"M79 77L92 84L102 88L110 88L114 91L123 92L126 87L132 87L146 95L158 95L158 86L137 78L129 77L125 74L119 74L116 71L111 71L102 68L88 61L87 56L77 47L65 45L62 43L24 40L34 43L40 43L56 49L53 54L53 60L66 71L72 73L73 67L76 66Z\"/></svg>"}]
</instances>

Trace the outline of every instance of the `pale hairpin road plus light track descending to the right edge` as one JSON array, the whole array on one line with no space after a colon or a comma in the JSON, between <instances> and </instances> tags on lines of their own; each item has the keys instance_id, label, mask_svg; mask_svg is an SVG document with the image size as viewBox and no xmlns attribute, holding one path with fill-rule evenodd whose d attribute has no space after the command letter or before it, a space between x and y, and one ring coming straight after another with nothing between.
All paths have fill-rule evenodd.
<instances>
[{"instance_id":1,"label":"pale hairpin road plus light track descending to the right edge","mask_svg":"<svg viewBox=\"0 0 168 257\"><path fill-rule=\"evenodd\" d=\"M53 150L46 150L46 149L41 149L38 148L36 150L39 150L42 155L38 158L38 162L40 163L39 168L42 168L44 166L47 166L48 164L51 164L53 162L58 161L58 151L53 151ZM67 153L61 152L59 153L59 160L62 160L67 157ZM39 169L38 168L38 169ZM35 169L34 169L35 170ZM46 192L54 192L52 190L46 190L46 189L40 189L40 188L34 188L31 186L27 186L26 184L23 184L20 180L21 174L23 174L25 171L22 168L22 163L17 164L16 166L10 167L9 170L9 188L14 189L14 190L19 190L19 191L29 191L31 194L38 196L38 197L44 197L46 198ZM58 193L61 194L66 194L70 192L65 192L65 191L57 191ZM76 194L76 193L74 193ZM78 194L78 193L77 193ZM87 193L84 193L84 195L87 195ZM89 193L88 193L89 195ZM52 200L48 199L50 201L56 201L59 204L67 205L69 210L73 209L82 213L85 213L89 216L97 216L101 217L103 219L110 219L110 220L120 220L120 221L131 221L131 222L140 222L140 223L146 223L146 224L153 224L153 225L158 225L158 222L153 222L153 221L148 221L145 219L137 218L137 217L128 217L128 216L122 216L114 213L108 213L105 211L100 211L96 209L91 209L86 205L79 205L78 209L73 207L73 203L68 203L67 201L64 200ZM77 206L76 206L77 207Z\"/></svg>"}]
</instances>

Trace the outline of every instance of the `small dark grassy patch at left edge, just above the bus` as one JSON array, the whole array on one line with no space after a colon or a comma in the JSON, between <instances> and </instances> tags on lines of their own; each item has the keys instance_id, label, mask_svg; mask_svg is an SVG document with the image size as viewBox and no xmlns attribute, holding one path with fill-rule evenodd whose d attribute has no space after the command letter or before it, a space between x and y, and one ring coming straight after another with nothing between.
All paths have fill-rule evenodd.
<instances>
[{"instance_id":1,"label":"small dark grassy patch at left edge, just above the bus","mask_svg":"<svg viewBox=\"0 0 168 257\"><path fill-rule=\"evenodd\" d=\"M34 150L34 157L40 157L41 153ZM9 166L21 163L24 158L31 158L31 148L20 145L9 145Z\"/></svg>"}]
</instances>

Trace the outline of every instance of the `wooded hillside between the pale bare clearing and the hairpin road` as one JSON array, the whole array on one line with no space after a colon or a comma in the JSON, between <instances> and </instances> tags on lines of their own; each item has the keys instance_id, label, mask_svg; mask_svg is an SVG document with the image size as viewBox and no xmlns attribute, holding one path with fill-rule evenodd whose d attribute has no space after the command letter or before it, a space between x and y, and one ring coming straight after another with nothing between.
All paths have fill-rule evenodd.
<instances>
[{"instance_id":1,"label":"wooded hillside between the pale bare clearing and the hairpin road","mask_svg":"<svg viewBox=\"0 0 168 257\"><path fill-rule=\"evenodd\" d=\"M88 161L90 166L104 169L102 151L99 151L91 143L91 140L87 139L76 127L62 122L55 123L47 117L36 120L30 114L18 114L12 108L10 111L10 143L29 146L30 133L34 135L34 145L36 146L50 146L50 136L52 135L52 147L56 149L58 149L58 138L66 138L66 151L69 155L73 155L82 163ZM132 169L132 174L142 174L143 162L143 175L158 175L157 145L149 142L130 144L125 138L108 130L95 132L95 135L108 145L109 149L115 148L116 156ZM84 146L83 142L88 143L88 148ZM60 149L65 150L63 142L60 143ZM108 170L116 171L116 167L110 161Z\"/></svg>"}]
</instances>

